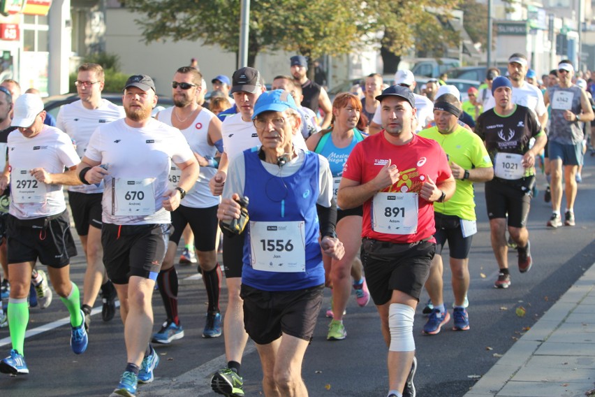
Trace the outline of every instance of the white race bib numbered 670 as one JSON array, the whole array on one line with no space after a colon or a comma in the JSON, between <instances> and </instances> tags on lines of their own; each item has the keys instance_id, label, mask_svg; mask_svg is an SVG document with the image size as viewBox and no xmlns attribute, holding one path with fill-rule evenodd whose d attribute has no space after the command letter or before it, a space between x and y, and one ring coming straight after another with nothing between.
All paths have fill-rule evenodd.
<instances>
[{"instance_id":1,"label":"white race bib numbered 670","mask_svg":"<svg viewBox=\"0 0 595 397\"><path fill-rule=\"evenodd\" d=\"M112 215L144 216L155 213L155 178L112 179Z\"/></svg>"}]
</instances>

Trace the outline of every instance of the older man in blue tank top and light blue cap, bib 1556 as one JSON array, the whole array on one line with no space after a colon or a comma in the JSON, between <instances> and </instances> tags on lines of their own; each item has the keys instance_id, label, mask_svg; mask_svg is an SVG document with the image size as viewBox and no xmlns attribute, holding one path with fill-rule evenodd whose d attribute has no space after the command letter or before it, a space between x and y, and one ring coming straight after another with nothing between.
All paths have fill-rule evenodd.
<instances>
[{"instance_id":1,"label":"older man in blue tank top and light blue cap, bib 1556","mask_svg":"<svg viewBox=\"0 0 595 397\"><path fill-rule=\"evenodd\" d=\"M230 159L217 215L223 222L240 218L237 201L249 197L241 296L265 396L307 396L301 367L322 304L321 247L337 260L344 254L332 177L325 158L292 143L301 117L290 92L260 95L252 121L261 146Z\"/></svg>"}]
</instances>

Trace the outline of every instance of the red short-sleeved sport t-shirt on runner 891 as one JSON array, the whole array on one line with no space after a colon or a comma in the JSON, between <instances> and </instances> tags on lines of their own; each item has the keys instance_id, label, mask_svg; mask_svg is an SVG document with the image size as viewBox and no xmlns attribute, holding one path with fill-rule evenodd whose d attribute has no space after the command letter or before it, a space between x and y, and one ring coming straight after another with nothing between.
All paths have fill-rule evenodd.
<instances>
[{"instance_id":1,"label":"red short-sleeved sport t-shirt on runner 891","mask_svg":"<svg viewBox=\"0 0 595 397\"><path fill-rule=\"evenodd\" d=\"M431 139L414 135L406 145L393 145L377 133L355 145L343 169L343 178L369 182L383 166L395 164L401 178L365 201L362 237L392 243L414 243L432 238L434 206L419 196L423 182L436 185L450 178L446 153Z\"/></svg>"}]
</instances>

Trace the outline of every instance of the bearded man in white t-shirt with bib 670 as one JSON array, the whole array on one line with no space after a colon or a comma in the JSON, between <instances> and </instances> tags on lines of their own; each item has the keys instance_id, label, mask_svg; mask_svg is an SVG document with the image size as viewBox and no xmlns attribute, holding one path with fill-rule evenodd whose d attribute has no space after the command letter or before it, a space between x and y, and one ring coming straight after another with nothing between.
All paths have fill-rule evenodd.
<instances>
[{"instance_id":1,"label":"bearded man in white t-shirt with bib 670","mask_svg":"<svg viewBox=\"0 0 595 397\"><path fill-rule=\"evenodd\" d=\"M152 382L159 356L148 343L153 326L151 298L166 254L170 211L198 178L198 163L178 129L151 117L157 104L147 75L132 75L122 97L126 118L99 127L78 167L80 180L103 181L103 263L115 284L124 322L127 365L111 396L134 396L137 384ZM182 170L175 189L172 162Z\"/></svg>"}]
</instances>

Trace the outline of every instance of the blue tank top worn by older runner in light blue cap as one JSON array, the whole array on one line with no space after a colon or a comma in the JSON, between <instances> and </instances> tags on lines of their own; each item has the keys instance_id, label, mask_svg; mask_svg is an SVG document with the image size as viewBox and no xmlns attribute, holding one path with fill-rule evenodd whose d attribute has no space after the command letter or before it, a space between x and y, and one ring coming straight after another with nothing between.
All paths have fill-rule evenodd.
<instances>
[{"instance_id":1,"label":"blue tank top worn by older runner in light blue cap","mask_svg":"<svg viewBox=\"0 0 595 397\"><path fill-rule=\"evenodd\" d=\"M257 270L252 266L250 226L244 240L244 267L242 283L263 291L295 291L324 284L324 267L321 247L318 243L319 226L316 201L320 194L318 186L320 161L318 154L305 152L306 158L300 170L291 176L279 178L270 174L260 163L258 150L244 151L246 183L244 196L248 196L250 221L290 222L304 221L304 245L306 268L304 272L278 273ZM282 236L279 236L282 238ZM260 244L259 241L254 243Z\"/></svg>"}]
</instances>

